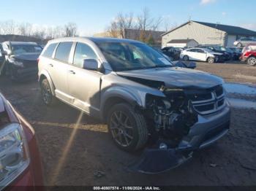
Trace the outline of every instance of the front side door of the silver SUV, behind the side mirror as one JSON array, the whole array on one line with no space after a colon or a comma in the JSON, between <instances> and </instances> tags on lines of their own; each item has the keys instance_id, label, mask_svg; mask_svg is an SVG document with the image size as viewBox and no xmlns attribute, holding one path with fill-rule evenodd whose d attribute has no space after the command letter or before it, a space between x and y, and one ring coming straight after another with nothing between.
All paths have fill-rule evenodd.
<instances>
[{"instance_id":1,"label":"front side door of the silver SUV, behind the side mirror","mask_svg":"<svg viewBox=\"0 0 256 191\"><path fill-rule=\"evenodd\" d=\"M84 59L99 61L89 44L78 42L75 46L73 62L67 69L67 84L72 104L89 114L99 112L100 80L102 73L83 69Z\"/></svg>"}]
</instances>

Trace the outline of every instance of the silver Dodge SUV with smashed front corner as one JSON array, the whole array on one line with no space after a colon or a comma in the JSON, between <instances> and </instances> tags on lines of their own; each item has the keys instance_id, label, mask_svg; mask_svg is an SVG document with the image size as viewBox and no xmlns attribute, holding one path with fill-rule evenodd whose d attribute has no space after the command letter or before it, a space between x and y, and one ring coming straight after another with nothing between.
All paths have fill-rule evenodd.
<instances>
[{"instance_id":1,"label":"silver Dodge SUV with smashed front corner","mask_svg":"<svg viewBox=\"0 0 256 191\"><path fill-rule=\"evenodd\" d=\"M45 104L58 98L107 122L121 149L134 151L152 143L201 149L229 130L223 80L174 67L141 42L54 39L39 56L38 66Z\"/></svg>"}]
</instances>

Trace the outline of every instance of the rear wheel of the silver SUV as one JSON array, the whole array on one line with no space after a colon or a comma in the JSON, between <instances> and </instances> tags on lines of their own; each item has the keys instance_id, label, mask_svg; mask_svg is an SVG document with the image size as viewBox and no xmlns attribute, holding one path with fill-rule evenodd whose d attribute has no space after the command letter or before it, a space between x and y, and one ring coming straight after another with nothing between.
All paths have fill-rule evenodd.
<instances>
[{"instance_id":1,"label":"rear wheel of the silver SUV","mask_svg":"<svg viewBox=\"0 0 256 191\"><path fill-rule=\"evenodd\" d=\"M50 83L48 82L48 79L42 79L40 87L42 93L42 101L45 103L45 105L53 106L56 104L56 98L50 89Z\"/></svg>"}]
</instances>

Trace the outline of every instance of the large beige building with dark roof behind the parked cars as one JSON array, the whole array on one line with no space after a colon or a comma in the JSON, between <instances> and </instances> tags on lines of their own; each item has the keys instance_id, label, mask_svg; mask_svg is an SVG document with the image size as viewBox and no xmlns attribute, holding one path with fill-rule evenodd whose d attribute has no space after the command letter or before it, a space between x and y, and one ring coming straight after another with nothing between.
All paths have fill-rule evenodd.
<instances>
[{"instance_id":1,"label":"large beige building with dark roof behind the parked cars","mask_svg":"<svg viewBox=\"0 0 256 191\"><path fill-rule=\"evenodd\" d=\"M195 39L199 44L218 44L231 47L241 37L256 37L256 32L238 26L203 23L189 20L162 34L162 47L173 39Z\"/></svg>"}]
</instances>

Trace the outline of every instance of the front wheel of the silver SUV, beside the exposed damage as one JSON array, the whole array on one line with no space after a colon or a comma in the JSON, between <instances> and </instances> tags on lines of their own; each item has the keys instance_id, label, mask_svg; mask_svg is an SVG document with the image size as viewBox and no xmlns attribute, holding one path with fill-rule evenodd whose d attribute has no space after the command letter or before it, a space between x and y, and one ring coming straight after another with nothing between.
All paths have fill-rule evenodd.
<instances>
[{"instance_id":1,"label":"front wheel of the silver SUV, beside the exposed damage","mask_svg":"<svg viewBox=\"0 0 256 191\"><path fill-rule=\"evenodd\" d=\"M129 104L116 104L108 112L108 132L121 149L133 152L148 141L148 128L143 114Z\"/></svg>"}]
</instances>

